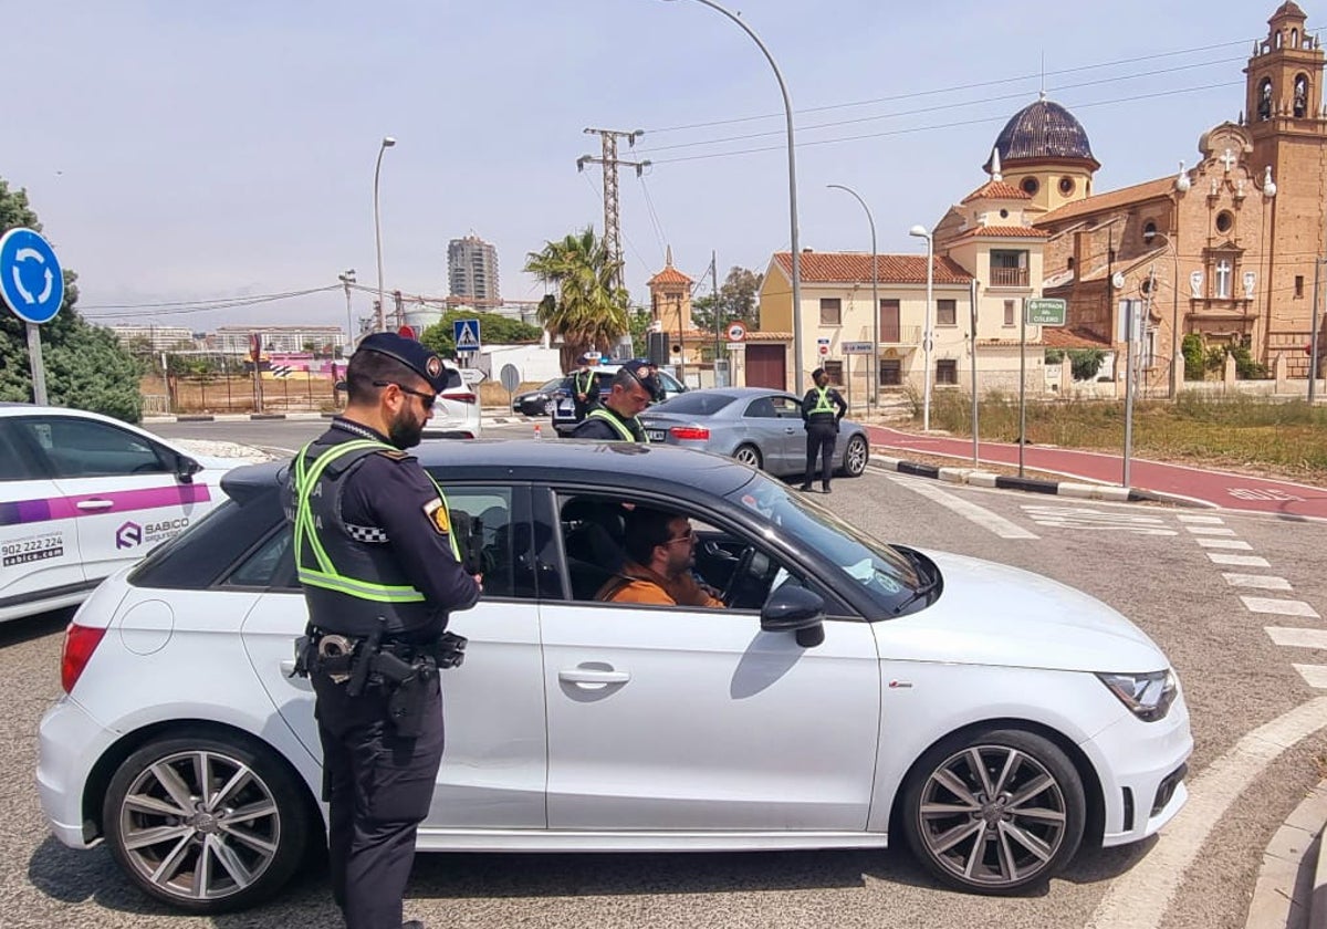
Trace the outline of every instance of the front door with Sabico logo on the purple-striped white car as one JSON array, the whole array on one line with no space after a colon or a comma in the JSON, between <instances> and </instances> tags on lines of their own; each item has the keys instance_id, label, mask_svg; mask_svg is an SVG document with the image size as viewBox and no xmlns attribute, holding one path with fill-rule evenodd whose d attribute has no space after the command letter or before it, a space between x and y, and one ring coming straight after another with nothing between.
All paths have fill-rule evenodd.
<instances>
[{"instance_id":1,"label":"front door with Sabico logo on the purple-striped white car","mask_svg":"<svg viewBox=\"0 0 1327 929\"><path fill-rule=\"evenodd\" d=\"M180 480L179 455L121 426L70 415L23 417L78 523L89 581L133 564L215 506L218 488Z\"/></svg>"}]
</instances>

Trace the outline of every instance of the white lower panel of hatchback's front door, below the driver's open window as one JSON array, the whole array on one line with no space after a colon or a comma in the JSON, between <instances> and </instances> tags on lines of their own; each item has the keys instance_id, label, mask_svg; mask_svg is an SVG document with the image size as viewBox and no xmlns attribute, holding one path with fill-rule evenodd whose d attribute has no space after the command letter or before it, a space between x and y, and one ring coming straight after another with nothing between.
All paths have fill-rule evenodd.
<instances>
[{"instance_id":1,"label":"white lower panel of hatchback's front door, below the driver's open window","mask_svg":"<svg viewBox=\"0 0 1327 929\"><path fill-rule=\"evenodd\" d=\"M762 632L755 610L548 599L539 612L549 828L865 828L880 718L869 624L829 620L804 649Z\"/></svg>"}]
</instances>

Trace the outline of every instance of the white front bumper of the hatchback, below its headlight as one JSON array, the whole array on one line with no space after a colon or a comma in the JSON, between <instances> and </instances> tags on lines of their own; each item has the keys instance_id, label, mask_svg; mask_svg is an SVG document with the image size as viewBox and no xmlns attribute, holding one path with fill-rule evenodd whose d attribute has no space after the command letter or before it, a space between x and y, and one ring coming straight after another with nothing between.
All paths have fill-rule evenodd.
<instances>
[{"instance_id":1,"label":"white front bumper of the hatchback, below its headlight","mask_svg":"<svg viewBox=\"0 0 1327 929\"><path fill-rule=\"evenodd\" d=\"M1147 839L1169 823L1189 798L1184 775L1193 754L1193 735L1182 693L1165 719L1143 722L1129 714L1082 749L1101 778L1103 845Z\"/></svg>"}]
</instances>

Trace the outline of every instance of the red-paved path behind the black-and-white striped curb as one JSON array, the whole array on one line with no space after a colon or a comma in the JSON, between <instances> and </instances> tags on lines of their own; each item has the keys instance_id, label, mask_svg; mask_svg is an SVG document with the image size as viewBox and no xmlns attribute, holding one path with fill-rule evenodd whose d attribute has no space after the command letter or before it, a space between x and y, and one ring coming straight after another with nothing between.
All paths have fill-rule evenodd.
<instances>
[{"instance_id":1,"label":"red-paved path behind the black-and-white striped curb","mask_svg":"<svg viewBox=\"0 0 1327 929\"><path fill-rule=\"evenodd\" d=\"M1026 478L999 478L986 475L977 480L981 468L973 468L973 442L969 438L953 438L937 433L908 433L890 426L868 425L871 445L885 451L898 451L901 458L896 470L909 474L928 471L958 471L966 476L949 474L926 474L950 480L983 486L1016 487L1043 494L1066 494L1078 496L1099 496L1099 499L1162 499L1189 506L1225 507L1249 512L1269 512L1287 518L1327 519L1327 488L1311 487L1290 480L1254 478L1245 474L1205 470L1184 464L1165 464L1133 458L1129 462L1129 486L1121 484L1124 461L1121 455L1107 455L1097 451L1074 449L1054 449L1028 445L1023 449L1024 470L1050 474L1063 474L1076 482L1096 487L1097 492L1084 492L1083 484L1063 487L1074 482L1028 480ZM906 462L906 455L945 457L954 459L953 468L934 468L926 464ZM876 459L880 461L878 458ZM886 459L889 461L889 459ZM981 442L978 463L1003 466L1018 464L1018 445L1002 442ZM1116 495L1107 495L1105 488L1113 487Z\"/></svg>"}]
</instances>

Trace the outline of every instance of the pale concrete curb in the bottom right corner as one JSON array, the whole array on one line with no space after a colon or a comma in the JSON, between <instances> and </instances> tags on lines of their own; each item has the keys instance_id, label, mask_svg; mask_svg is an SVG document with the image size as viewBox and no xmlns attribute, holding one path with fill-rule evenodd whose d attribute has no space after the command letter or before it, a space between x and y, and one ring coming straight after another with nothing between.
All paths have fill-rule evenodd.
<instances>
[{"instance_id":1,"label":"pale concrete curb in the bottom right corner","mask_svg":"<svg viewBox=\"0 0 1327 929\"><path fill-rule=\"evenodd\" d=\"M1245 929L1327 928L1327 780L1314 787L1262 853Z\"/></svg>"}]
</instances>

